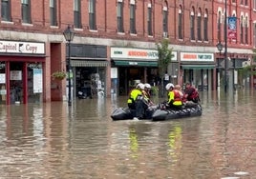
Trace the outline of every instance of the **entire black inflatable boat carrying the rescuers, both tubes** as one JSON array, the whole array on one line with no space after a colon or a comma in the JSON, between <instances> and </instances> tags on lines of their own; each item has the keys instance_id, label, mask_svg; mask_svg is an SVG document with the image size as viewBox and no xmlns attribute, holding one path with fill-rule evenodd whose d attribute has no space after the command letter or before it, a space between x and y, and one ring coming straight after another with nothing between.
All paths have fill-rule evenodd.
<instances>
[{"instance_id":1,"label":"entire black inflatable boat carrying the rescuers, both tubes","mask_svg":"<svg viewBox=\"0 0 256 179\"><path fill-rule=\"evenodd\" d=\"M203 112L202 106L200 104L189 104L184 106L182 109L165 109L163 106L163 104L160 104L158 106L149 107L145 111L143 119L164 121L183 117L200 116ZM111 114L111 118L114 121L133 119L135 116L136 110L128 108L117 108Z\"/></svg>"}]
</instances>

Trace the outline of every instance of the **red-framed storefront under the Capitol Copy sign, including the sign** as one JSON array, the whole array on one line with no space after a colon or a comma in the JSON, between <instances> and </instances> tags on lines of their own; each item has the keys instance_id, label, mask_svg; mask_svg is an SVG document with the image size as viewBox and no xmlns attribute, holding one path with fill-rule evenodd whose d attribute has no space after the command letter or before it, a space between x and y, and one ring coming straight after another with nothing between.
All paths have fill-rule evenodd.
<instances>
[{"instance_id":1,"label":"red-framed storefront under the Capitol Copy sign, including the sign","mask_svg":"<svg viewBox=\"0 0 256 179\"><path fill-rule=\"evenodd\" d=\"M0 104L43 101L45 43L0 41Z\"/></svg>"}]
</instances>

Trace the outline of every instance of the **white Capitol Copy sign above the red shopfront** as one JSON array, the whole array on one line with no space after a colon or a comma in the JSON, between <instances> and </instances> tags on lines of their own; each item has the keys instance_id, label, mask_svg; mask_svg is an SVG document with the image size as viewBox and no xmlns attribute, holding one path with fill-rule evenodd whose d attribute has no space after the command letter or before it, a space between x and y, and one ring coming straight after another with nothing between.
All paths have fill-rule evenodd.
<instances>
[{"instance_id":1,"label":"white Capitol Copy sign above the red shopfront","mask_svg":"<svg viewBox=\"0 0 256 179\"><path fill-rule=\"evenodd\" d=\"M0 53L45 54L45 43L0 41Z\"/></svg>"}]
</instances>

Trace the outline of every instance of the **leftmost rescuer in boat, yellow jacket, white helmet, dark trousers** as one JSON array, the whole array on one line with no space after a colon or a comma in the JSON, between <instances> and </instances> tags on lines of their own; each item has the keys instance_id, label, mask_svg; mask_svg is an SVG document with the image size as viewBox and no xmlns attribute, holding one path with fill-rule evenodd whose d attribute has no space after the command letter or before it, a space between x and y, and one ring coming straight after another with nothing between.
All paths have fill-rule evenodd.
<instances>
[{"instance_id":1,"label":"leftmost rescuer in boat, yellow jacket, white helmet, dark trousers","mask_svg":"<svg viewBox=\"0 0 256 179\"><path fill-rule=\"evenodd\" d=\"M148 104L144 99L142 90L144 85L139 83L136 89L133 89L130 93L129 99L127 101L129 109L136 109L135 118L142 119L144 117L146 109L148 109Z\"/></svg>"}]
</instances>

